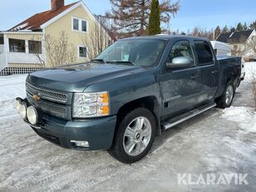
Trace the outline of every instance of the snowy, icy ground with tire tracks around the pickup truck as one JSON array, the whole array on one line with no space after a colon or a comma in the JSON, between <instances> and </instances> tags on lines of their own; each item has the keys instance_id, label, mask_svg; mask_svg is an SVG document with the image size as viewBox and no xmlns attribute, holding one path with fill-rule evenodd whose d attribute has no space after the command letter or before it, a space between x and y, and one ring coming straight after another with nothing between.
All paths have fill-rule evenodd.
<instances>
[{"instance_id":1,"label":"snowy, icy ground with tire tracks around the pickup truck","mask_svg":"<svg viewBox=\"0 0 256 192\"><path fill-rule=\"evenodd\" d=\"M232 107L175 126L134 165L106 151L65 150L38 137L13 106L25 94L25 78L0 77L0 191L256 191L256 118L248 77ZM248 174L249 185L178 185L177 175L186 173Z\"/></svg>"}]
</instances>

